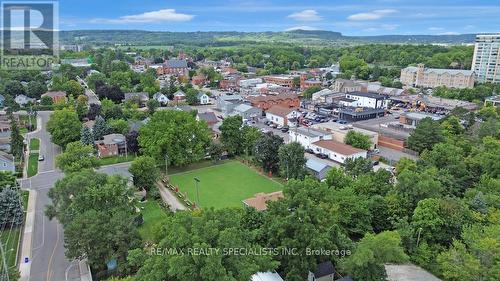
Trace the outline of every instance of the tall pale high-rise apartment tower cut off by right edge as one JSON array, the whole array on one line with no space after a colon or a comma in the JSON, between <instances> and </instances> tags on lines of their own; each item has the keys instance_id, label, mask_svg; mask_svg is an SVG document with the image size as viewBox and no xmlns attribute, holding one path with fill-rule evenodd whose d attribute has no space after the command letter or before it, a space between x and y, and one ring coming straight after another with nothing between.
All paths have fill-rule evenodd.
<instances>
[{"instance_id":1,"label":"tall pale high-rise apartment tower cut off by right edge","mask_svg":"<svg viewBox=\"0 0 500 281\"><path fill-rule=\"evenodd\" d=\"M500 34L476 36L472 71L481 83L500 83Z\"/></svg>"}]
</instances>

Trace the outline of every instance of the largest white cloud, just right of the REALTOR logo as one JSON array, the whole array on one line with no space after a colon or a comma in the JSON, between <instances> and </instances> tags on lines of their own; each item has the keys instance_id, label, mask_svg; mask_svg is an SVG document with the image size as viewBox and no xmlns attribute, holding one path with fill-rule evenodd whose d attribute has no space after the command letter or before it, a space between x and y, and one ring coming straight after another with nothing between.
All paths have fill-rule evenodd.
<instances>
[{"instance_id":1,"label":"largest white cloud, just right of the REALTOR logo","mask_svg":"<svg viewBox=\"0 0 500 281\"><path fill-rule=\"evenodd\" d=\"M93 19L93 23L160 23L160 22L185 22L194 18L193 15L177 13L175 9L162 9L138 15L123 16L118 19Z\"/></svg>"}]
</instances>

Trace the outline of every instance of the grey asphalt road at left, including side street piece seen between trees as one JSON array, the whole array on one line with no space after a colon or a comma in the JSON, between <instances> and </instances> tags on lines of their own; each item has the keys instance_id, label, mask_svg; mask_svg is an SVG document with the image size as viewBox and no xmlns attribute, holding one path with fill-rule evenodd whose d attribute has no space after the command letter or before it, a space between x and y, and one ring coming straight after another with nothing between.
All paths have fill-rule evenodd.
<instances>
[{"instance_id":1,"label":"grey asphalt road at left, including side street piece seen between trees","mask_svg":"<svg viewBox=\"0 0 500 281\"><path fill-rule=\"evenodd\" d=\"M56 219L49 220L45 207L50 204L48 191L54 183L63 177L55 168L55 156L61 153L61 148L50 141L46 131L46 123L51 112L39 112L39 127L30 133L28 138L40 139L40 154L45 160L38 164L38 174L29 179L23 179L23 188L37 191L35 205L35 222L31 253L31 281L73 281L80 280L78 261L70 261L64 255L63 228ZM127 164L104 167L102 172L108 174L127 175Z\"/></svg>"}]
</instances>

